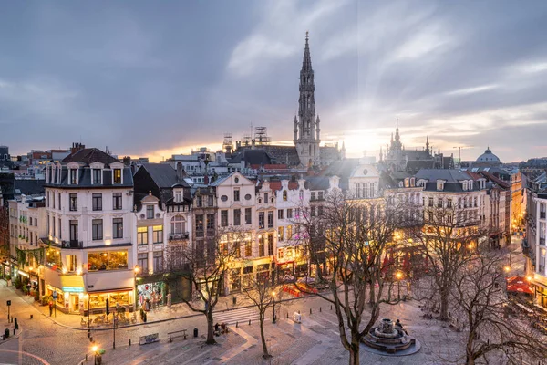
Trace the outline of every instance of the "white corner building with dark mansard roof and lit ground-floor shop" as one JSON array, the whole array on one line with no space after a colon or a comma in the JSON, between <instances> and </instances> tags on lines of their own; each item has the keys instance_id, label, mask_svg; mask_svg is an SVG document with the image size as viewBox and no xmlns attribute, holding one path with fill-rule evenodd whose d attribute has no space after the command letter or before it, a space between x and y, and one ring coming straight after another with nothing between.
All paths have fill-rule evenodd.
<instances>
[{"instance_id":1,"label":"white corner building with dark mansard roof and lit ground-floor shop","mask_svg":"<svg viewBox=\"0 0 547 365\"><path fill-rule=\"evenodd\" d=\"M134 305L133 177L98 149L75 148L46 168L46 294L68 313Z\"/></svg>"}]
</instances>

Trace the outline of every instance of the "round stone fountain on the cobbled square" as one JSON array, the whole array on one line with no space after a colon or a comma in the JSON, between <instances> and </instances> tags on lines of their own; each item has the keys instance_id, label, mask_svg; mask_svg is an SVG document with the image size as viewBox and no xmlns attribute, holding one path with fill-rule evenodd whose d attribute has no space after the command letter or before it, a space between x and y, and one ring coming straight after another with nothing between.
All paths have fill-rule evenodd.
<instances>
[{"instance_id":1,"label":"round stone fountain on the cobbled square","mask_svg":"<svg viewBox=\"0 0 547 365\"><path fill-rule=\"evenodd\" d=\"M416 353L421 348L417 339L407 335L403 327L389 318L382 318L362 339L366 350L381 355L404 356Z\"/></svg>"}]
</instances>

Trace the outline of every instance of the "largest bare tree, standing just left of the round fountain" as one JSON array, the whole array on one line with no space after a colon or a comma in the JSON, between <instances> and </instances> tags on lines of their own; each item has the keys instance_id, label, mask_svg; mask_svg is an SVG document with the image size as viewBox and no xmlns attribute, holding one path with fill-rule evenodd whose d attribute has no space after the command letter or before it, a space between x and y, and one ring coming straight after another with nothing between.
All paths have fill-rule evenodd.
<instances>
[{"instance_id":1,"label":"largest bare tree, standing just left of the round fountain","mask_svg":"<svg viewBox=\"0 0 547 365\"><path fill-rule=\"evenodd\" d=\"M321 242L332 268L330 295L316 295L334 305L340 341L349 351L350 364L359 363L361 339L377 321L380 305L387 303L383 292L393 281L387 277L383 258L402 219L399 207L383 198L356 200L334 191L325 198L323 214L304 214L299 222L299 235L304 237L301 243L307 245L308 253L317 247L314 242ZM296 286L307 291L298 283ZM362 328L366 309L370 317Z\"/></svg>"}]
</instances>

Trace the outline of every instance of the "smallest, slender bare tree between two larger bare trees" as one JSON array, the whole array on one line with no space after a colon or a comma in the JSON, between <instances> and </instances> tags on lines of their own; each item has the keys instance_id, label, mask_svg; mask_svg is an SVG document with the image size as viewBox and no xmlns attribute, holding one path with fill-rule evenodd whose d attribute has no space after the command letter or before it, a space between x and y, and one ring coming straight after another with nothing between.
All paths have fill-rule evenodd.
<instances>
[{"instance_id":1,"label":"smallest, slender bare tree between two larger bare trees","mask_svg":"<svg viewBox=\"0 0 547 365\"><path fill-rule=\"evenodd\" d=\"M280 300L280 290L277 286L272 285L272 278L270 276L257 277L256 280L251 280L249 287L245 287L243 292L254 303L259 313L260 321L260 338L263 344L263 358L271 358L272 355L268 352L266 345L266 338L264 336L264 318L266 318L266 310L273 308L274 320L275 314L275 301Z\"/></svg>"}]
</instances>

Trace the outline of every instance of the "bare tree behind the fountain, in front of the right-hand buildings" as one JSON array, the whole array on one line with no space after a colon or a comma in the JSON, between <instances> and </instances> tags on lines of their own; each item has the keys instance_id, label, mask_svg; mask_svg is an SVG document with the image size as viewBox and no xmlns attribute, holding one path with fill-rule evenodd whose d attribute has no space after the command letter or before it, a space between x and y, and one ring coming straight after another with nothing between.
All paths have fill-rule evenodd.
<instances>
[{"instance_id":1,"label":"bare tree behind the fountain, in front of the right-hand buildings","mask_svg":"<svg viewBox=\"0 0 547 365\"><path fill-rule=\"evenodd\" d=\"M424 224L409 235L418 243L430 265L433 284L439 294L439 319L449 320L449 296L454 278L479 249L486 230L480 217L458 209L456 204L424 208Z\"/></svg>"}]
</instances>

